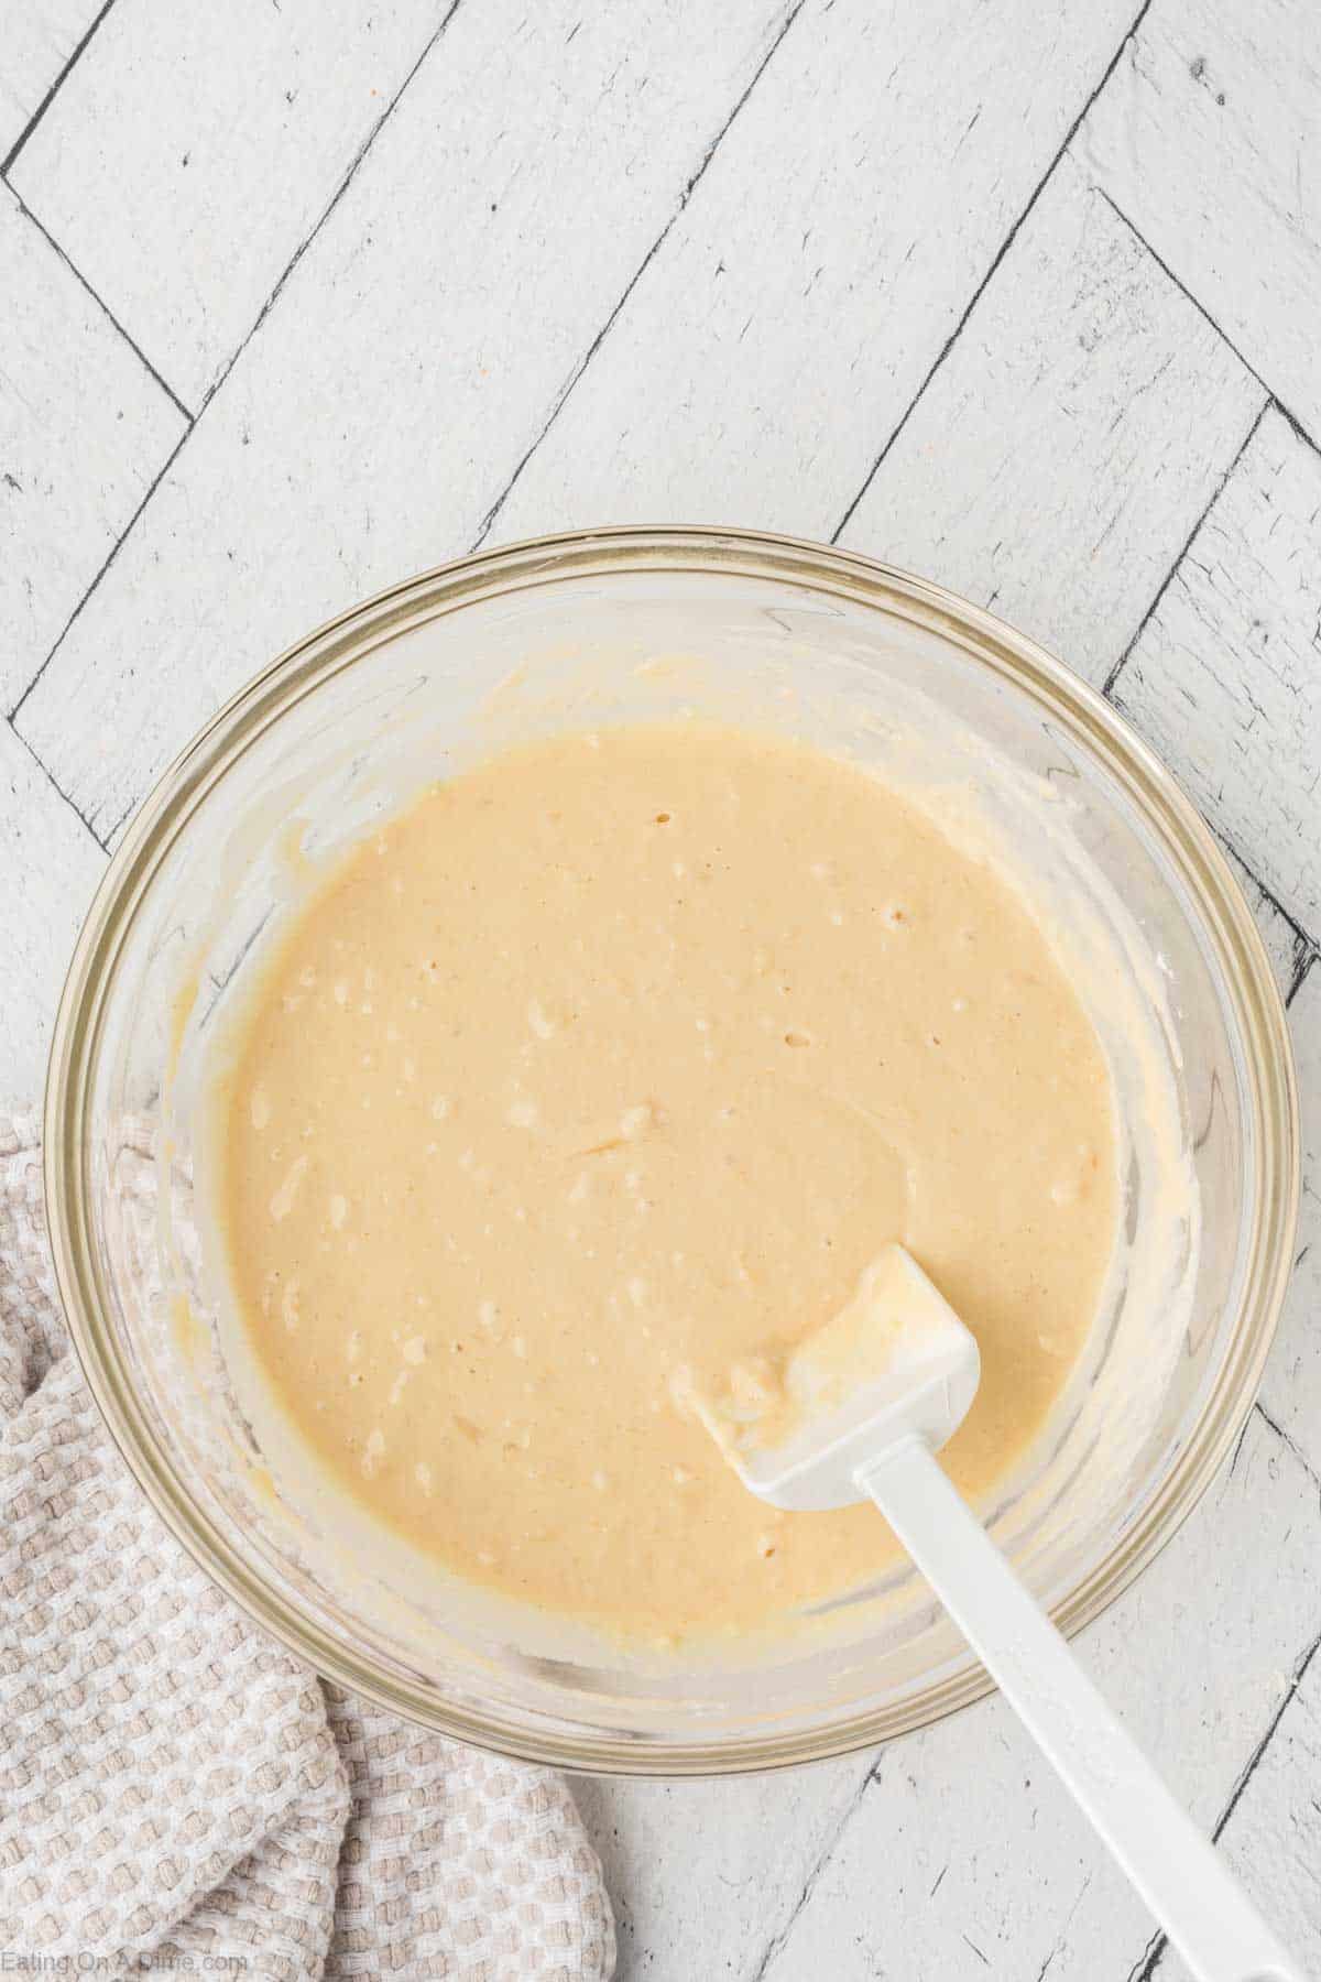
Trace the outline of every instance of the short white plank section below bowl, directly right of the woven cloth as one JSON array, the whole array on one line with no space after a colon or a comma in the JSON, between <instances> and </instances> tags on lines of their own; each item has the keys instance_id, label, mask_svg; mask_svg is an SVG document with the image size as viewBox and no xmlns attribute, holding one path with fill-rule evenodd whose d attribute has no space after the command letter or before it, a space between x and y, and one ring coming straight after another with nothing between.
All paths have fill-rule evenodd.
<instances>
[{"instance_id":1,"label":"short white plank section below bowl, directly right of the woven cloth","mask_svg":"<svg viewBox=\"0 0 1321 1982\"><path fill-rule=\"evenodd\" d=\"M574 1782L614 1901L614 1982L753 1974L873 1760L846 1756L774 1778Z\"/></svg>"}]
</instances>

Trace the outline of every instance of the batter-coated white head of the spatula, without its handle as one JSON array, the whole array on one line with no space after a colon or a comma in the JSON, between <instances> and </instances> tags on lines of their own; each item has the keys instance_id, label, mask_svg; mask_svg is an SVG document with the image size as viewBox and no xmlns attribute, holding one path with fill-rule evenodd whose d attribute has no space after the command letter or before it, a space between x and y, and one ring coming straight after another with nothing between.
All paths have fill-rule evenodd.
<instances>
[{"instance_id":1,"label":"batter-coated white head of the spatula, without its handle","mask_svg":"<svg viewBox=\"0 0 1321 1982\"><path fill-rule=\"evenodd\" d=\"M879 1253L858 1292L788 1354L753 1358L693 1409L733 1469L784 1508L864 1500L858 1467L917 1431L945 1445L980 1377L976 1342L901 1245Z\"/></svg>"}]
</instances>

